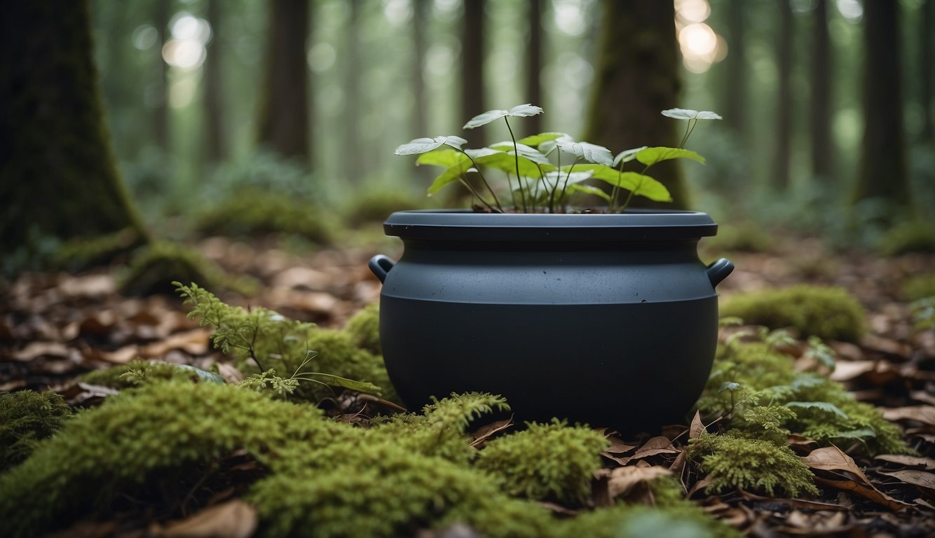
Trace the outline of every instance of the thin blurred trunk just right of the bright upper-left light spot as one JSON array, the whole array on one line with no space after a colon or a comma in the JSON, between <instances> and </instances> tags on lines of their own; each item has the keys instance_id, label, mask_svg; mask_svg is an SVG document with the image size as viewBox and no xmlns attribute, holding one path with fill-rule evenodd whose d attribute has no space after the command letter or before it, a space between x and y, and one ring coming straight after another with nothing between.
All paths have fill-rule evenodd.
<instances>
[{"instance_id":1,"label":"thin blurred trunk just right of the bright upper-left light spot","mask_svg":"<svg viewBox=\"0 0 935 538\"><path fill-rule=\"evenodd\" d=\"M208 21L211 25L211 43L205 57L205 143L210 163L223 161L224 150L222 50L222 0L208 0Z\"/></svg>"}]
</instances>

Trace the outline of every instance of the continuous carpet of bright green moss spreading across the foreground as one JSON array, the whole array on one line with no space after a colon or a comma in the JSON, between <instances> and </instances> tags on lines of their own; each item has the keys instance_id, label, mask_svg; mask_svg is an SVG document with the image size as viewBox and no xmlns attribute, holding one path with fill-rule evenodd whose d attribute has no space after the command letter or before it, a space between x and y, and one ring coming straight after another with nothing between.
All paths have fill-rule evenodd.
<instances>
[{"instance_id":1,"label":"continuous carpet of bright green moss spreading across the foreground","mask_svg":"<svg viewBox=\"0 0 935 538\"><path fill-rule=\"evenodd\" d=\"M311 403L274 400L231 384L152 379L80 412L31 456L0 475L0 534L33 536L68 529L79 519L173 518L238 488L257 508L260 536L403 536L466 523L491 537L641 536L642 530L691 529L698 536L735 535L684 501L681 489L656 495L656 507L617 505L558 518L497 474L482 468L470 445L473 418L505 409L489 394L452 395L420 414L375 421L368 428L324 417ZM564 431L564 432L563 432ZM562 424L523 432L524 445L597 434ZM496 443L505 443L506 433ZM576 454L539 460L554 468L530 479L590 478L603 443L554 446ZM494 446L494 443L490 443ZM255 460L259 473L225 474ZM93 487L90 487L94 485Z\"/></svg>"}]
</instances>

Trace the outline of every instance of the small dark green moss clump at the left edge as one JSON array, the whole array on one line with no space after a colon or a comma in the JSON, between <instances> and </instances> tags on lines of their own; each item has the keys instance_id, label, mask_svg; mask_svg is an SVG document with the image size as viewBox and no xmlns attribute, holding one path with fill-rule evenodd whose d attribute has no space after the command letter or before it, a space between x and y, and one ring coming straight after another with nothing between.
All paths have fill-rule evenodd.
<instances>
[{"instance_id":1,"label":"small dark green moss clump at the left edge","mask_svg":"<svg viewBox=\"0 0 935 538\"><path fill-rule=\"evenodd\" d=\"M0 473L28 458L39 441L58 432L68 418L71 408L56 392L0 395Z\"/></svg>"}]
</instances>

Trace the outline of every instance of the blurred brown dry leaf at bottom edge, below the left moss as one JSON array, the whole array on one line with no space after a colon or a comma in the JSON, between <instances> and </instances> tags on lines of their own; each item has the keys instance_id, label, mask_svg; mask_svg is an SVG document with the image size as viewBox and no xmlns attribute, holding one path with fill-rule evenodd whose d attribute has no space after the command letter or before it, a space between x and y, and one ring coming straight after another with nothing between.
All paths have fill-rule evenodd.
<instances>
[{"instance_id":1,"label":"blurred brown dry leaf at bottom edge, below the left moss","mask_svg":"<svg viewBox=\"0 0 935 538\"><path fill-rule=\"evenodd\" d=\"M169 523L156 535L162 538L250 538L256 531L257 520L256 508L234 500Z\"/></svg>"}]
</instances>

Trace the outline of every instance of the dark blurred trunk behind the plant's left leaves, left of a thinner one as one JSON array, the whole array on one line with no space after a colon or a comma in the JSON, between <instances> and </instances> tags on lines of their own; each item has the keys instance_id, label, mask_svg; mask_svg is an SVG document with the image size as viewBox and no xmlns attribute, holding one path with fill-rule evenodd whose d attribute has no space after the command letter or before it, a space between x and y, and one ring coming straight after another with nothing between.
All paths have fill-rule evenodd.
<instances>
[{"instance_id":1,"label":"dark blurred trunk behind the plant's left leaves, left of a thinner one","mask_svg":"<svg viewBox=\"0 0 935 538\"><path fill-rule=\"evenodd\" d=\"M461 29L461 117L465 120L486 110L483 106L484 7L484 0L464 3ZM468 140L468 148L483 145L482 129L471 129L463 135Z\"/></svg>"}]
</instances>

